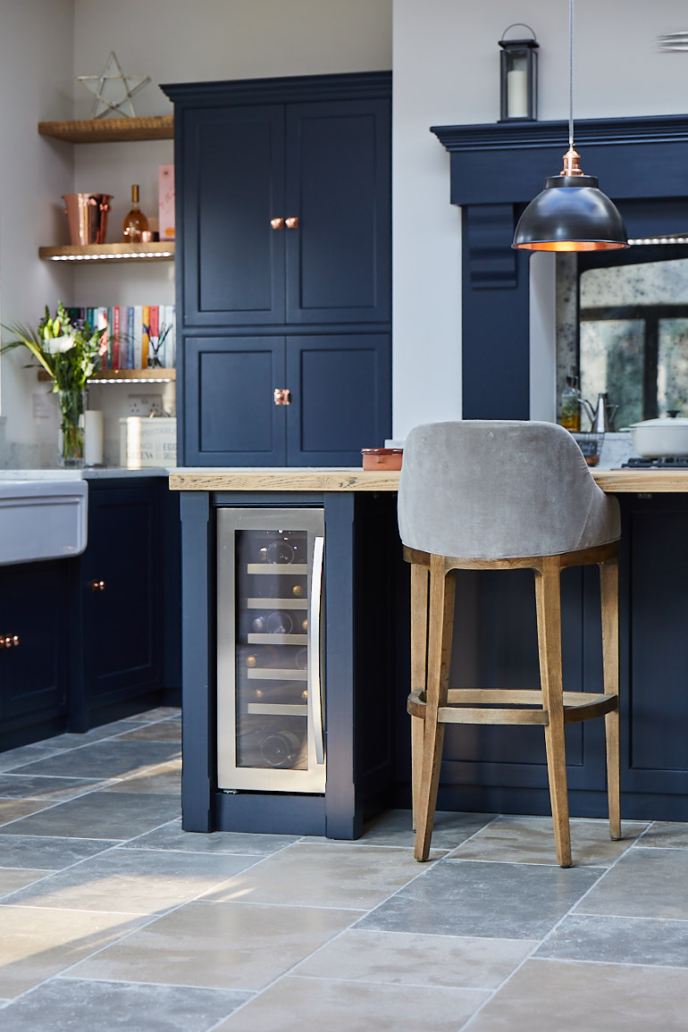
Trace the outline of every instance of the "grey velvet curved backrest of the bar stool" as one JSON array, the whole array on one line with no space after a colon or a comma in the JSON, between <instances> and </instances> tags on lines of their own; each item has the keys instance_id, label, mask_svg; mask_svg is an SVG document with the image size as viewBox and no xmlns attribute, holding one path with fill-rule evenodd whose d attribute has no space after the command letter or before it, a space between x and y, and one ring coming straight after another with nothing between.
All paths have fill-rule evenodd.
<instances>
[{"instance_id":1,"label":"grey velvet curved backrest of the bar stool","mask_svg":"<svg viewBox=\"0 0 688 1032\"><path fill-rule=\"evenodd\" d=\"M619 505L562 426L462 420L416 426L403 447L404 545L465 558L561 555L616 541Z\"/></svg>"}]
</instances>

